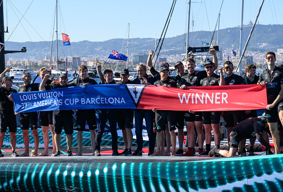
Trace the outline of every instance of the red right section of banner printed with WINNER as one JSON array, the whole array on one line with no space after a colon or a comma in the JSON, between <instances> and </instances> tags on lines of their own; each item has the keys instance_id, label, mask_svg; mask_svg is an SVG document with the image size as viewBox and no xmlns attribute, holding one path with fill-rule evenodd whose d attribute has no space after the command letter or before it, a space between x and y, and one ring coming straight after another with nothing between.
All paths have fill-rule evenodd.
<instances>
[{"instance_id":1,"label":"red right section of banner printed with WINNER","mask_svg":"<svg viewBox=\"0 0 283 192\"><path fill-rule=\"evenodd\" d=\"M178 88L145 87L138 109L226 111L264 109L266 88L261 85L226 85Z\"/></svg>"}]
</instances>

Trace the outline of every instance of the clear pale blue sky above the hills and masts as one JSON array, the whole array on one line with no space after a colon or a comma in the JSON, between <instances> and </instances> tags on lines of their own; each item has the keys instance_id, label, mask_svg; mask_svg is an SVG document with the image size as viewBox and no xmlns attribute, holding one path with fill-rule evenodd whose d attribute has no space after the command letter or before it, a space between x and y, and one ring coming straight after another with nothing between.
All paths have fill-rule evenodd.
<instances>
[{"instance_id":1,"label":"clear pale blue sky above the hills and masts","mask_svg":"<svg viewBox=\"0 0 283 192\"><path fill-rule=\"evenodd\" d=\"M5 33L5 41L8 38L9 41L15 42L52 40L56 0L1 1L4 4L4 26L6 29L8 23L9 28L9 33ZM58 38L62 40L61 33L66 33L71 42L125 38L128 23L130 23L129 38L155 38L155 36L159 38L173 2L173 0L58 1ZM166 37L175 37L186 32L187 2L188 0L177 0ZM213 31L222 1L192 0L192 2L190 20L193 19L195 25L193 28L190 25L190 31ZM261 0L244 0L243 24L248 24L250 20L254 22L260 4ZM282 7L282 0L265 0L258 19L259 24L283 24ZM21 23L19 19L22 15L16 8L21 14L26 12ZM220 29L240 25L241 0L224 0L220 14ZM54 39L55 31L56 25Z\"/></svg>"}]
</instances>

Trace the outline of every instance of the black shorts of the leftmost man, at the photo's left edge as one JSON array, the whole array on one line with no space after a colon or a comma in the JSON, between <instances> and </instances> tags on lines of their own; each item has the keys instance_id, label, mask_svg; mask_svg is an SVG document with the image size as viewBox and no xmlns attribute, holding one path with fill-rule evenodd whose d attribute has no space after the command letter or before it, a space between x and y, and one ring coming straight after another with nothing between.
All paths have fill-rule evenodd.
<instances>
[{"instance_id":1,"label":"black shorts of the leftmost man, at the photo's left edge","mask_svg":"<svg viewBox=\"0 0 283 192\"><path fill-rule=\"evenodd\" d=\"M0 113L0 132L6 132L7 127L9 127L10 133L17 132L17 120L16 115Z\"/></svg>"}]
</instances>

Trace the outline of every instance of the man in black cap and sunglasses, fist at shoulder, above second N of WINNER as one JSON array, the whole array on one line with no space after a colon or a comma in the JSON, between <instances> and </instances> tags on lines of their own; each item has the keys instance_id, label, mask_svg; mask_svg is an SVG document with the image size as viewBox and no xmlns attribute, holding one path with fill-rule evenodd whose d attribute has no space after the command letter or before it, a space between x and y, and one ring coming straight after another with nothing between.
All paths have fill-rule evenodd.
<instances>
[{"instance_id":1,"label":"man in black cap and sunglasses, fist at shoulder, above second N of WINNER","mask_svg":"<svg viewBox=\"0 0 283 192\"><path fill-rule=\"evenodd\" d=\"M212 61L206 61L204 64L207 76L200 80L200 86L217 86L225 85L222 67L218 67L220 76L214 73L214 63ZM221 111L204 111L202 112L203 126L205 129L205 145L206 149L201 155L208 155L211 144L211 128L214 132L214 142L216 147L219 149L221 134L219 131Z\"/></svg>"}]
</instances>

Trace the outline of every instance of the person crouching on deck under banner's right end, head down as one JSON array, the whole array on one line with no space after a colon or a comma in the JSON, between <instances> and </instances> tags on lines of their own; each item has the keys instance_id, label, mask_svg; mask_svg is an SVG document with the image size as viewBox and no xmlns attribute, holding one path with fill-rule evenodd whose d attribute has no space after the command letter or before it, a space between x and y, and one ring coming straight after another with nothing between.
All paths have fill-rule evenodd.
<instances>
[{"instance_id":1,"label":"person crouching on deck under banner's right end, head down","mask_svg":"<svg viewBox=\"0 0 283 192\"><path fill-rule=\"evenodd\" d=\"M268 124L266 122L265 116L261 118L248 118L241 123L233 127L230 133L230 150L218 149L215 145L213 149L209 151L209 156L222 155L224 157L231 157L236 154L238 144L243 139L257 138L259 142L264 145L264 147L271 149L275 152L274 147L269 145L268 136L266 130L268 129ZM253 146L251 146L253 147Z\"/></svg>"}]
</instances>

